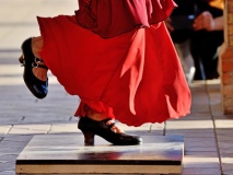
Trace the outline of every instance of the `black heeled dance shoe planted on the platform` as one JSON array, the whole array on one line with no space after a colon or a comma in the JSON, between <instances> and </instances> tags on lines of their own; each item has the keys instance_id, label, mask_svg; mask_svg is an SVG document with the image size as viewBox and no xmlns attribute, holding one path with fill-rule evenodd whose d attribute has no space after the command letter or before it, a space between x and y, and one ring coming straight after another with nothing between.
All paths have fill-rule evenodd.
<instances>
[{"instance_id":1,"label":"black heeled dance shoe planted on the platform","mask_svg":"<svg viewBox=\"0 0 233 175\"><path fill-rule=\"evenodd\" d=\"M94 136L97 135L106 141L115 145L135 145L141 144L142 139L138 136L127 135L125 132L116 133L112 131L112 127L115 124L106 125L110 119L104 119L101 121L93 120L89 117L81 117L78 124L78 128L83 132L85 139L85 145L94 144Z\"/></svg>"}]
</instances>

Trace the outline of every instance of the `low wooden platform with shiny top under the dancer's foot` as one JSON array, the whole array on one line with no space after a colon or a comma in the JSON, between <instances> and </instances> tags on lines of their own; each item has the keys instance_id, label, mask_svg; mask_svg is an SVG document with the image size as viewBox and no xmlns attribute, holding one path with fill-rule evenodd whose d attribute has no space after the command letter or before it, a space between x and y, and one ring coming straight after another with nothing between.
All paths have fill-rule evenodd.
<instances>
[{"instance_id":1,"label":"low wooden platform with shiny top under the dancer's foot","mask_svg":"<svg viewBox=\"0 0 233 175\"><path fill-rule=\"evenodd\" d=\"M80 135L34 136L16 159L16 175L180 174L182 136L144 136L140 145L112 145L96 137L84 147Z\"/></svg>"}]
</instances>

